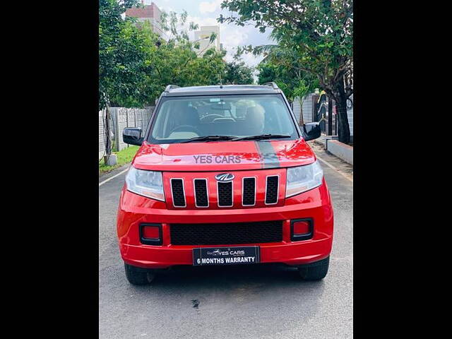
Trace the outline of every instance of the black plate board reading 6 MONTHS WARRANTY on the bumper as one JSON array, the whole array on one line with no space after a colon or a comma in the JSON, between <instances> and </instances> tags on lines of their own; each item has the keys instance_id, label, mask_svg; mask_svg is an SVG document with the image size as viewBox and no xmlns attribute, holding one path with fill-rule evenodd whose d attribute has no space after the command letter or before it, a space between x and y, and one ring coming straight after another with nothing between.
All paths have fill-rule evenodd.
<instances>
[{"instance_id":1,"label":"black plate board reading 6 MONTHS WARRANTY on the bumper","mask_svg":"<svg viewBox=\"0 0 452 339\"><path fill-rule=\"evenodd\" d=\"M193 265L240 265L258 263L259 246L200 247L193 249Z\"/></svg>"}]
</instances>

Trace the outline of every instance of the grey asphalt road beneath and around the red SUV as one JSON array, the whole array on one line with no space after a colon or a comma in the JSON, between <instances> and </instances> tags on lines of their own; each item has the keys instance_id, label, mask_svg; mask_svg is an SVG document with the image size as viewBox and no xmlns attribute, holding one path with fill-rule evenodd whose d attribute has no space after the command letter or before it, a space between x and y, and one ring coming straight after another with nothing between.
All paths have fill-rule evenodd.
<instances>
[{"instance_id":1,"label":"grey asphalt road beneath and around the red SUV","mask_svg":"<svg viewBox=\"0 0 452 339\"><path fill-rule=\"evenodd\" d=\"M341 172L352 172L321 148L315 150ZM256 265L188 267L157 276L153 285L130 285L115 230L125 174L102 184L99 338L352 338L353 183L321 165L333 198L335 230L330 270L320 282L299 280L293 268Z\"/></svg>"}]
</instances>

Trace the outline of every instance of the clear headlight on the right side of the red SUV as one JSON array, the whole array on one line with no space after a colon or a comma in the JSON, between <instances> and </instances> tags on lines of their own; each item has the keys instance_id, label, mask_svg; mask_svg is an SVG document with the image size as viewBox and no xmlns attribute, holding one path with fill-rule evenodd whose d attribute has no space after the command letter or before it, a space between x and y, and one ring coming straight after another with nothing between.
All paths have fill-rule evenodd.
<instances>
[{"instance_id":1,"label":"clear headlight on the right side of the red SUV","mask_svg":"<svg viewBox=\"0 0 452 339\"><path fill-rule=\"evenodd\" d=\"M322 179L323 169L319 165L319 160L311 165L288 168L285 197L289 198L314 189L322 184Z\"/></svg>"}]
</instances>

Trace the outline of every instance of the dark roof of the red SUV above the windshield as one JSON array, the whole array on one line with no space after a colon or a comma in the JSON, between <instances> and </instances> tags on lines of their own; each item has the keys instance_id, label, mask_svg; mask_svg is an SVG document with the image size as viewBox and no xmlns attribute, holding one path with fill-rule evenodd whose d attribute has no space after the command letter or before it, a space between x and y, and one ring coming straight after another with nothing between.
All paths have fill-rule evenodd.
<instances>
[{"instance_id":1,"label":"dark roof of the red SUV above the windshield","mask_svg":"<svg viewBox=\"0 0 452 339\"><path fill-rule=\"evenodd\" d=\"M191 95L234 95L234 94L275 94L281 93L275 83L264 85L213 85L213 86L191 86L179 87L167 85L162 96L180 97Z\"/></svg>"}]
</instances>

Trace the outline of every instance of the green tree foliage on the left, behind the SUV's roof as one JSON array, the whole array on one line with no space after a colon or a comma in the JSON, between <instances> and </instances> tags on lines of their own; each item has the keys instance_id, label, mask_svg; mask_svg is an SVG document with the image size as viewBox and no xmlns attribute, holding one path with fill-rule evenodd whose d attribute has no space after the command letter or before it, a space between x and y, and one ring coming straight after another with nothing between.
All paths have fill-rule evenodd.
<instances>
[{"instance_id":1,"label":"green tree foliage on the left, behind the SUV's roof","mask_svg":"<svg viewBox=\"0 0 452 339\"><path fill-rule=\"evenodd\" d=\"M165 41L148 22L123 18L131 6L141 5L138 0L99 0L99 109L153 105L169 84L252 83L253 69L243 61L227 63L225 51L201 50L199 40L189 39L198 25L186 22L185 11L162 12Z\"/></svg>"}]
</instances>

